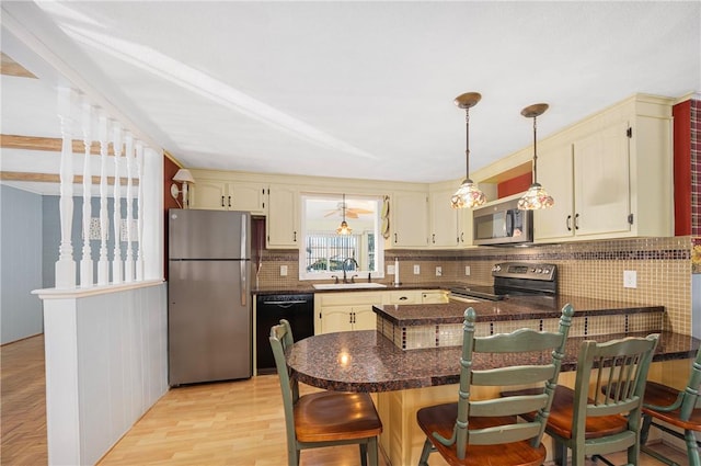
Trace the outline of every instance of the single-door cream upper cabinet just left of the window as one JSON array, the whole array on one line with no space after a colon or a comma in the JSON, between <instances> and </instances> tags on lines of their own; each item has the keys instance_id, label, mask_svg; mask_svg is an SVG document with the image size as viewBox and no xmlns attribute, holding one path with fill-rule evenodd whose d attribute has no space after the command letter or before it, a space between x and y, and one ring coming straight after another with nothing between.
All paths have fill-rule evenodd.
<instances>
[{"instance_id":1,"label":"single-door cream upper cabinet just left of the window","mask_svg":"<svg viewBox=\"0 0 701 466\"><path fill-rule=\"evenodd\" d=\"M267 247L296 249L301 241L299 190L292 185L271 184L265 223Z\"/></svg>"}]
</instances>

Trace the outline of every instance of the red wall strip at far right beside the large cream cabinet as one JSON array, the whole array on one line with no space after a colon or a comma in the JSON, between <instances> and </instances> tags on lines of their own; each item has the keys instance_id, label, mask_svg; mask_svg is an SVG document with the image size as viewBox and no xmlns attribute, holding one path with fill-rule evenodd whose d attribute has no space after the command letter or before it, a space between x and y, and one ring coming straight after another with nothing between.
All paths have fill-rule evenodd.
<instances>
[{"instance_id":1,"label":"red wall strip at far right beside the large cream cabinet","mask_svg":"<svg viewBox=\"0 0 701 466\"><path fill-rule=\"evenodd\" d=\"M674 181L675 236L691 235L691 101L673 107L674 116ZM699 209L699 206L693 206ZM694 230L698 229L696 226ZM698 231L694 232L698 235Z\"/></svg>"}]
</instances>

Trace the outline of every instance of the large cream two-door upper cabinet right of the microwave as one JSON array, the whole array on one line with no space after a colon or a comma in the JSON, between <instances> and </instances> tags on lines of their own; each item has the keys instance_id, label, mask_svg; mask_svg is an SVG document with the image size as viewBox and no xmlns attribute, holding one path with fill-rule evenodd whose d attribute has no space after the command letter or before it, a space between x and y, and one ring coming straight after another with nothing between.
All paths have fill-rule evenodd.
<instances>
[{"instance_id":1,"label":"large cream two-door upper cabinet right of the microwave","mask_svg":"<svg viewBox=\"0 0 701 466\"><path fill-rule=\"evenodd\" d=\"M535 212L536 241L673 235L669 102L628 100L542 146L538 181L555 205Z\"/></svg>"}]
</instances>

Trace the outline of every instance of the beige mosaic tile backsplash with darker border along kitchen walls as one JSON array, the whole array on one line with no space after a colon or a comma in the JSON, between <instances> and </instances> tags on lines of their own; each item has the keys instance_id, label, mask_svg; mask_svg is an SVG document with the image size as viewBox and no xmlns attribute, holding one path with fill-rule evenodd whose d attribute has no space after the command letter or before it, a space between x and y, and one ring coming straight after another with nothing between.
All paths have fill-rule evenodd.
<instances>
[{"instance_id":1,"label":"beige mosaic tile backsplash with darker border along kitchen walls","mask_svg":"<svg viewBox=\"0 0 701 466\"><path fill-rule=\"evenodd\" d=\"M641 238L572 242L535 248L475 248L460 251L392 250L400 261L404 284L464 282L491 285L492 265L503 261L549 262L558 265L560 294L663 305L664 328L691 334L691 237ZM295 287L299 284L297 251L266 250L262 254L260 286ZM421 274L413 274L417 264ZM279 266L288 275L279 276ZM436 266L443 276L436 277ZM466 266L470 275L466 275ZM637 274L637 287L623 287L623 271ZM391 283L392 275L382 282Z\"/></svg>"}]
</instances>

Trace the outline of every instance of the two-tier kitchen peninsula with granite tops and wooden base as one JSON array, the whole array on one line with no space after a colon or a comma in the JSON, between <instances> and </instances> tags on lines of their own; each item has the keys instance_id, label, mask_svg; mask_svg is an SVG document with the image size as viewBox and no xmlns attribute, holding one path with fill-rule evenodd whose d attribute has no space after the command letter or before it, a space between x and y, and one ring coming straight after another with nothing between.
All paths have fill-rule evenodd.
<instances>
[{"instance_id":1,"label":"two-tier kitchen peninsula with granite tops and wooden base","mask_svg":"<svg viewBox=\"0 0 701 466\"><path fill-rule=\"evenodd\" d=\"M416 464L424 440L415 423L416 410L457 399L453 384L459 380L464 309L471 306L478 311L478 325L483 326L483 332L495 326L510 331L518 327L543 328L541 326L550 326L550 321L556 325L565 299L567 297L554 298L551 306L517 298L469 304L376 305L378 330L326 333L298 341L288 354L288 363L302 383L333 390L376 393L384 425L380 437L382 450L392 465ZM656 379L660 377L660 362L665 362L665 371L676 361L686 366L686 360L692 357L699 346L699 341L691 337L660 331L662 306L574 297L570 300L575 306L575 320L563 361L562 384L573 382L576 349L584 339L609 340L659 332L654 360L657 372L651 371L651 378ZM590 319L594 319L591 325ZM453 328L459 329L460 341L453 339L452 344L448 344L446 340L439 344L441 332L450 333ZM411 341L412 334L425 333L433 334L434 344L410 349L398 344ZM508 363L526 363L529 356L525 354L524 361ZM482 364L487 367L495 363L483 361Z\"/></svg>"}]
</instances>

